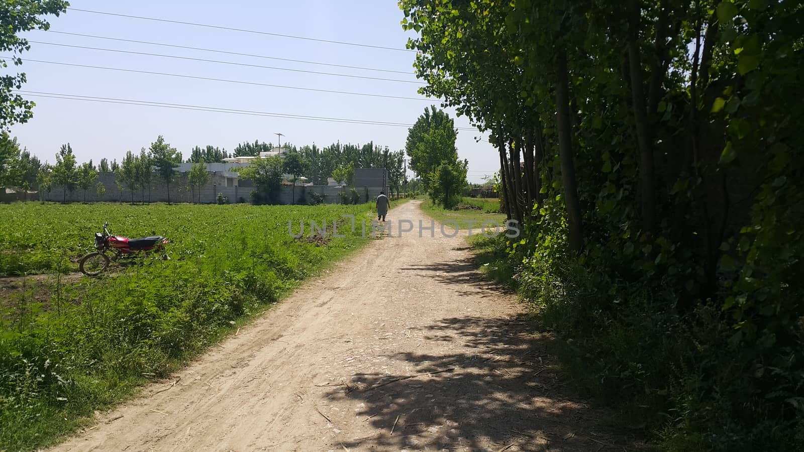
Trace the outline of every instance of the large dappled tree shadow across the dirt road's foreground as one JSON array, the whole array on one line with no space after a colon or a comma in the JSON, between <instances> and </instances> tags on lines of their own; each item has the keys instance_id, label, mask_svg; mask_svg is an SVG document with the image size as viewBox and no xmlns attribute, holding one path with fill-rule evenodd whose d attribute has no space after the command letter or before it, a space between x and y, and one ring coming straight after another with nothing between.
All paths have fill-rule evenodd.
<instances>
[{"instance_id":1,"label":"large dappled tree shadow across the dirt road's foreground","mask_svg":"<svg viewBox=\"0 0 804 452\"><path fill-rule=\"evenodd\" d=\"M359 374L326 394L357 401L381 433L343 442L350 450L637 450L630 432L566 386L547 355L549 335L533 335L527 314L444 318L415 331L453 341L441 355L389 355L415 364L408 375ZM416 375L412 376L411 375ZM409 377L409 378L408 378ZM345 389L344 389L345 388Z\"/></svg>"}]
</instances>

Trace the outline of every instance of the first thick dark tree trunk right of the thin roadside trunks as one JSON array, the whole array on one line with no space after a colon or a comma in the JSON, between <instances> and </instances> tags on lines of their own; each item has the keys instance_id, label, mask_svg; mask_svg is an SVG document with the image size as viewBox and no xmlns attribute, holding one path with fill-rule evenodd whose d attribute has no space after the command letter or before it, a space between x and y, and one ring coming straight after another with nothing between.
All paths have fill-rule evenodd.
<instances>
[{"instance_id":1,"label":"first thick dark tree trunk right of the thin roadside trunks","mask_svg":"<svg viewBox=\"0 0 804 452\"><path fill-rule=\"evenodd\" d=\"M561 180L564 183L564 204L567 207L569 226L569 248L580 253L584 247L583 219L580 214L580 200L575 180L575 163L572 162L572 130L569 115L569 74L567 51L558 49L556 53L556 113L558 123L559 156L561 161Z\"/></svg>"}]
</instances>

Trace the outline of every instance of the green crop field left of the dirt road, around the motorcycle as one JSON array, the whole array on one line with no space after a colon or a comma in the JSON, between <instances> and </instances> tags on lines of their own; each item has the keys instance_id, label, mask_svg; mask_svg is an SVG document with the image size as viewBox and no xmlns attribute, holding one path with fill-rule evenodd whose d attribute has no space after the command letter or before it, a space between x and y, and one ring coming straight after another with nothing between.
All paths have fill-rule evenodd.
<instances>
[{"instance_id":1,"label":"green crop field left of the dirt road, around the motorcycle","mask_svg":"<svg viewBox=\"0 0 804 452\"><path fill-rule=\"evenodd\" d=\"M300 220L373 217L369 204L16 203L0 214L0 450L55 442L370 240L347 221L344 238L294 239L289 220L297 233ZM116 235L166 236L170 260L76 273L105 221Z\"/></svg>"}]
</instances>

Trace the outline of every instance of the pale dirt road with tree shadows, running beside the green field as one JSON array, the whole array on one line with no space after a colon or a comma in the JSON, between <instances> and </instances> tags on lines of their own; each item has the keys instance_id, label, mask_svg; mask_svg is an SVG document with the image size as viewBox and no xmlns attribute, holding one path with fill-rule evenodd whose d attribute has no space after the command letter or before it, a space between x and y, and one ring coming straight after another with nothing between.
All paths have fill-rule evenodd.
<instances>
[{"instance_id":1,"label":"pale dirt road with tree shadows, running beside the green field","mask_svg":"<svg viewBox=\"0 0 804 452\"><path fill-rule=\"evenodd\" d=\"M53 450L634 450L461 237L392 234ZM397 222L416 231L398 236ZM451 232L449 229L447 232Z\"/></svg>"}]
</instances>

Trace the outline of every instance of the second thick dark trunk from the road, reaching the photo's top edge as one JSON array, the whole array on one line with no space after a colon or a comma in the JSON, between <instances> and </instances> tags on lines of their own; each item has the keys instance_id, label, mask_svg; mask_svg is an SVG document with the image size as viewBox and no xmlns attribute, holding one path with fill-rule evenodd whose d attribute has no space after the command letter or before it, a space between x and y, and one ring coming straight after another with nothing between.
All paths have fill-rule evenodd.
<instances>
[{"instance_id":1,"label":"second thick dark trunk from the road, reaching the photo's top edge","mask_svg":"<svg viewBox=\"0 0 804 452\"><path fill-rule=\"evenodd\" d=\"M654 179L653 145L650 136L647 105L645 101L642 59L637 43L639 6L636 2L631 11L630 34L628 37L628 62L631 76L631 98L634 105L634 123L639 147L639 188L642 229L652 233L656 228L656 188Z\"/></svg>"}]
</instances>

